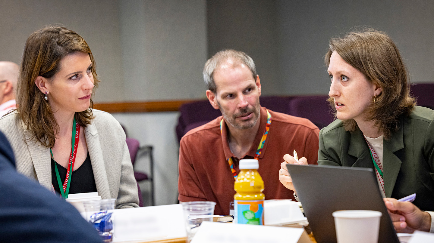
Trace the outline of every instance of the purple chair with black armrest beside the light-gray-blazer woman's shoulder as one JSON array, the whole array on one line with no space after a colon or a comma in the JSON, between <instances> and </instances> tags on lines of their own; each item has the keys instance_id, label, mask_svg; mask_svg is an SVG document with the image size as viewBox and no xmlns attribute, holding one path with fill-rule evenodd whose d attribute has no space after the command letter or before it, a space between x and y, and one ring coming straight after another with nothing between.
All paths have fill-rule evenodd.
<instances>
[{"instance_id":1,"label":"purple chair with black armrest beside the light-gray-blazer woman's shoulder","mask_svg":"<svg viewBox=\"0 0 434 243\"><path fill-rule=\"evenodd\" d=\"M146 181L146 180L151 182L151 204L154 205L154 181L153 181L153 176L152 176L152 171L153 171L152 146L140 147L140 144L139 144L137 139L128 138L128 137L126 138L126 142L127 142L128 150L130 152L130 157L131 157L131 162L132 162L133 168L134 168L134 164L135 164L135 161L137 158L137 154L139 152L148 152L149 153L151 176L148 176L148 174L143 173L143 172L134 171L134 177L137 181L138 194L139 194L139 206L140 207L143 206L143 199L141 196L141 190L140 190L140 187L138 185L138 182L139 181Z\"/></svg>"}]
</instances>

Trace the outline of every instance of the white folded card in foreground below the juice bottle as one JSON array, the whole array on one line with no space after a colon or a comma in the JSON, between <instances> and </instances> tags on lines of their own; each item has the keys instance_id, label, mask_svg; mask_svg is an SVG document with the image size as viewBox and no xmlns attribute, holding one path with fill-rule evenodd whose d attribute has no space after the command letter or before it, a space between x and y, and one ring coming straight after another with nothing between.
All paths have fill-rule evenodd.
<instances>
[{"instance_id":1,"label":"white folded card in foreground below the juice bottle","mask_svg":"<svg viewBox=\"0 0 434 243\"><path fill-rule=\"evenodd\" d=\"M202 222L191 243L310 243L301 228Z\"/></svg>"}]
</instances>

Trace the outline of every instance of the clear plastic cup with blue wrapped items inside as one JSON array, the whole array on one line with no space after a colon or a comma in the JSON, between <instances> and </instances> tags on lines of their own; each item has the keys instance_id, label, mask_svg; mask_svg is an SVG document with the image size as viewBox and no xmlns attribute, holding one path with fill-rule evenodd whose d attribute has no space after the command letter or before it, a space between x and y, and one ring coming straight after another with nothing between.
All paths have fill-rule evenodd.
<instances>
[{"instance_id":1,"label":"clear plastic cup with blue wrapped items inside","mask_svg":"<svg viewBox=\"0 0 434 243\"><path fill-rule=\"evenodd\" d=\"M85 201L83 207L86 212L85 219L92 224L102 237L104 242L113 240L113 211L115 210L115 198Z\"/></svg>"}]
</instances>

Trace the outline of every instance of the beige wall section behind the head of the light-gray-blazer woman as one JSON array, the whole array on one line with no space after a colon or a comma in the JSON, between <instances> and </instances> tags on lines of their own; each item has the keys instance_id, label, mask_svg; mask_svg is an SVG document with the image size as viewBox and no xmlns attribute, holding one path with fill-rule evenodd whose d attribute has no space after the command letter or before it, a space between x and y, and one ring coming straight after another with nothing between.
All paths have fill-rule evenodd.
<instances>
[{"instance_id":1,"label":"beige wall section behind the head of the light-gray-blazer woman","mask_svg":"<svg viewBox=\"0 0 434 243\"><path fill-rule=\"evenodd\" d=\"M103 81L95 100L125 97L116 0L0 1L0 60L20 62L29 35L48 24L64 24L89 44Z\"/></svg>"}]
</instances>

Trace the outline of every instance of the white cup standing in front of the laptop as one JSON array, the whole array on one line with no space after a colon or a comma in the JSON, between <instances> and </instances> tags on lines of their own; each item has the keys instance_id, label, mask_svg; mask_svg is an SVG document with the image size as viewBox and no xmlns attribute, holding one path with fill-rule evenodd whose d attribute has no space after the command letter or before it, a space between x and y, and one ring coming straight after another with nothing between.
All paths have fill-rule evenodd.
<instances>
[{"instance_id":1,"label":"white cup standing in front of the laptop","mask_svg":"<svg viewBox=\"0 0 434 243\"><path fill-rule=\"evenodd\" d=\"M381 212L344 210L332 215L338 243L378 243Z\"/></svg>"}]
</instances>

